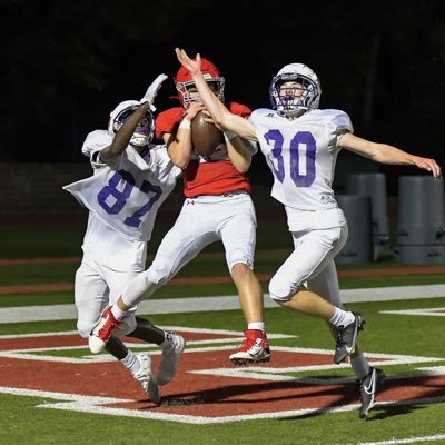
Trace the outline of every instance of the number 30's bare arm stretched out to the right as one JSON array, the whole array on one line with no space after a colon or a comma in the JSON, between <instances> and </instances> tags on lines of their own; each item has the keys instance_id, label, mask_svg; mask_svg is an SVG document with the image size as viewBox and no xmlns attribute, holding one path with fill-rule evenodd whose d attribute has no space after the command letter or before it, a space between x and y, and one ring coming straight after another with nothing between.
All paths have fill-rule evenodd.
<instances>
[{"instance_id":1,"label":"number 30's bare arm stretched out to the right","mask_svg":"<svg viewBox=\"0 0 445 445\"><path fill-rule=\"evenodd\" d=\"M355 135L346 134L342 137L339 146L376 162L416 166L423 170L431 171L435 178L442 177L441 167L434 159L414 156L387 144L376 144Z\"/></svg>"}]
</instances>

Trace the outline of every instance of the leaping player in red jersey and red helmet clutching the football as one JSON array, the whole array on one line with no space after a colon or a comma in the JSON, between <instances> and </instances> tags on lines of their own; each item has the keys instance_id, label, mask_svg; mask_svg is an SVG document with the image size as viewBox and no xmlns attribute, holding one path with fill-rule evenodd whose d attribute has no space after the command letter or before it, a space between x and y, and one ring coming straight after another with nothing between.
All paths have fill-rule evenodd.
<instances>
[{"instance_id":1,"label":"leaping player in red jersey and red helmet clutching the football","mask_svg":"<svg viewBox=\"0 0 445 445\"><path fill-rule=\"evenodd\" d=\"M202 59L204 76L212 91L224 100L225 79L218 68ZM171 279L206 246L222 241L226 261L237 287L247 322L245 340L229 359L236 365L269 362L270 349L265 334L263 290L253 271L256 243L256 215L246 171L255 144L225 131L225 142L209 157L194 150L191 121L205 109L191 75L181 67L175 77L181 105L159 113L158 138L167 144L174 164L184 171L186 200L174 227L162 239L151 266L123 290L91 333L90 347L99 352L115 326L141 299ZM250 109L236 102L227 108L244 118Z\"/></svg>"}]
</instances>

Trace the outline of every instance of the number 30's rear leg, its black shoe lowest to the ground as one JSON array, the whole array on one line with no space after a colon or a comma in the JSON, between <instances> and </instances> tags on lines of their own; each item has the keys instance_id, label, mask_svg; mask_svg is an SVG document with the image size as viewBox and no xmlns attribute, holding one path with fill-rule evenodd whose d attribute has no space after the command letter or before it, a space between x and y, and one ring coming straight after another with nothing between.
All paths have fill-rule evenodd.
<instances>
[{"instance_id":1,"label":"number 30's rear leg, its black shoe lowest to the ground","mask_svg":"<svg viewBox=\"0 0 445 445\"><path fill-rule=\"evenodd\" d=\"M342 307L338 277L334 260L332 260L320 274L309 279L307 281L307 287L326 298L334 306ZM332 325L328 326L333 337L336 338L337 329ZM365 417L374 406L375 396L382 389L385 374L382 369L374 368L369 365L357 342L354 353L350 354L350 366L357 377L356 384L362 404L359 416Z\"/></svg>"}]
</instances>

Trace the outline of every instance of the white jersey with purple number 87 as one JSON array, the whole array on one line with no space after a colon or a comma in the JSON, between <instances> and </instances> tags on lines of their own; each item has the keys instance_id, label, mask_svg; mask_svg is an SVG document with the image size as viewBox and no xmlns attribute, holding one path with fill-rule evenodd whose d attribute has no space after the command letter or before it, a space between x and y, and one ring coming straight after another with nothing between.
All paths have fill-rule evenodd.
<instances>
[{"instance_id":1,"label":"white jersey with purple number 87","mask_svg":"<svg viewBox=\"0 0 445 445\"><path fill-rule=\"evenodd\" d=\"M107 130L88 135L82 151L95 175L63 189L90 210L85 254L115 270L144 269L157 211L181 170L164 145L151 147L145 159L128 146L112 162L101 162L98 154L112 138Z\"/></svg>"}]
</instances>

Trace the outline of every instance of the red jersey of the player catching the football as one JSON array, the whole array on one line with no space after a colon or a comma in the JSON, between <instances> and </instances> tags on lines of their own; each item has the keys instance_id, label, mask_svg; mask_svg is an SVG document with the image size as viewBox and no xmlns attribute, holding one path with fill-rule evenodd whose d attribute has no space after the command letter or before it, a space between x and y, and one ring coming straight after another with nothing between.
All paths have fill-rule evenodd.
<instances>
[{"instance_id":1,"label":"red jersey of the player catching the football","mask_svg":"<svg viewBox=\"0 0 445 445\"><path fill-rule=\"evenodd\" d=\"M245 119L251 113L248 107L240 103L227 102L226 107ZM165 134L175 135L185 112L184 107L175 107L159 113L156 119L156 137L164 139ZM249 180L234 167L225 144L220 144L215 154L207 158L194 151L182 177L184 195L188 198L196 195L222 195L234 190L250 192Z\"/></svg>"}]
</instances>

